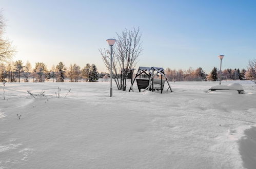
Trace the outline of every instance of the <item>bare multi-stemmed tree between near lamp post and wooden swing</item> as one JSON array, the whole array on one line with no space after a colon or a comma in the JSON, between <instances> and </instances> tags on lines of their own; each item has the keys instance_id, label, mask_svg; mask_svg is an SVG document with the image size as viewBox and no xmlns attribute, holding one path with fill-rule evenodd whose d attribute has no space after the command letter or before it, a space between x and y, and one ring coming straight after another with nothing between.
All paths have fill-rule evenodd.
<instances>
[{"instance_id":1,"label":"bare multi-stemmed tree between near lamp post and wooden swing","mask_svg":"<svg viewBox=\"0 0 256 169\"><path fill-rule=\"evenodd\" d=\"M116 33L116 44L113 46L113 79L117 89L126 90L126 78L132 68L135 67L138 57L141 55L142 42L140 28L123 30L121 34ZM105 66L110 71L110 51L100 49ZM123 77L119 82L119 72Z\"/></svg>"}]
</instances>

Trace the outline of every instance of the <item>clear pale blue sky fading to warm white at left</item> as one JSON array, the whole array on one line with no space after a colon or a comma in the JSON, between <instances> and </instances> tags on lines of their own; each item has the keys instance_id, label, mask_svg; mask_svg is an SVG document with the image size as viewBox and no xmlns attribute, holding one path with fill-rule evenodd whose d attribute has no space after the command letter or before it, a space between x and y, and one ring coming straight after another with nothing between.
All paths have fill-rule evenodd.
<instances>
[{"instance_id":1,"label":"clear pale blue sky fading to warm white at left","mask_svg":"<svg viewBox=\"0 0 256 169\"><path fill-rule=\"evenodd\" d=\"M140 27L139 66L171 69L246 68L256 58L255 1L12 1L1 0L6 36L17 47L14 58L88 62L106 71L99 48L124 28Z\"/></svg>"}]
</instances>

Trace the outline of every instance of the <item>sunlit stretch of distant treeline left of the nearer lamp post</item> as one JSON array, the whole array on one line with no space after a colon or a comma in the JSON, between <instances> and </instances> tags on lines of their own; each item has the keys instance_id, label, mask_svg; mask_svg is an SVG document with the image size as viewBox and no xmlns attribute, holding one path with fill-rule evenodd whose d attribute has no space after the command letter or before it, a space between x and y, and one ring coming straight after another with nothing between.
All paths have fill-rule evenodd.
<instances>
[{"instance_id":1,"label":"sunlit stretch of distant treeline left of the nearer lamp post","mask_svg":"<svg viewBox=\"0 0 256 169\"><path fill-rule=\"evenodd\" d=\"M0 81L2 82L21 82L21 79L24 79L24 82L45 82L50 78L53 79L53 82L64 82L65 79L71 82L78 80L93 82L97 81L99 76L102 74L97 72L94 64L86 64L83 69L76 64L71 64L67 69L61 61L56 66L52 66L50 71L43 62L36 62L33 69L29 61L26 62L25 66L22 60L0 64Z\"/></svg>"}]
</instances>

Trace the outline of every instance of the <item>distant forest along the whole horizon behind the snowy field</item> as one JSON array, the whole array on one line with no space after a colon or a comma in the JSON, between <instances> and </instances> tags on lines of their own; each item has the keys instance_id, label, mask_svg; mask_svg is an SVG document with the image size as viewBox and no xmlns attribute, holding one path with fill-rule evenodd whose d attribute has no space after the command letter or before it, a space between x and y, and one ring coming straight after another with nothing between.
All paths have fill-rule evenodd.
<instances>
[{"instance_id":1,"label":"distant forest along the whole horizon behind the snowy field","mask_svg":"<svg viewBox=\"0 0 256 169\"><path fill-rule=\"evenodd\" d=\"M219 80L220 71L217 71L214 67L209 74L206 74L202 68L189 68L188 70L167 68L165 73L169 81L217 81ZM98 81L99 78L102 78L102 81L108 81L109 76L109 73L97 72L94 64L86 64L82 69L80 66L73 64L67 69L63 62L59 62L56 66L52 66L50 70L43 62L36 62L34 68L31 67L29 61L24 64L22 60L0 64L1 82L45 82L49 79L53 82L93 82ZM246 70L224 69L222 80L246 80Z\"/></svg>"}]
</instances>

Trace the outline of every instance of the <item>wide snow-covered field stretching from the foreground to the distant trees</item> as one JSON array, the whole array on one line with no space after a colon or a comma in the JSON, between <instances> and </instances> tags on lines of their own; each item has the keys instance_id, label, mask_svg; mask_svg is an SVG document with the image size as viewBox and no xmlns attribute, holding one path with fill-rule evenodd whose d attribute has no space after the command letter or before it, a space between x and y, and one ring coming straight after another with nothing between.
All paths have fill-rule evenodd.
<instances>
[{"instance_id":1,"label":"wide snow-covered field stretching from the foreground to the distant trees","mask_svg":"<svg viewBox=\"0 0 256 169\"><path fill-rule=\"evenodd\" d=\"M173 93L109 98L109 82L7 83L0 168L256 168L256 87L232 82L245 93L171 82Z\"/></svg>"}]
</instances>

